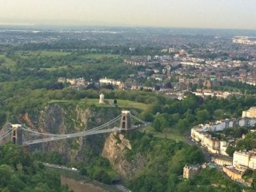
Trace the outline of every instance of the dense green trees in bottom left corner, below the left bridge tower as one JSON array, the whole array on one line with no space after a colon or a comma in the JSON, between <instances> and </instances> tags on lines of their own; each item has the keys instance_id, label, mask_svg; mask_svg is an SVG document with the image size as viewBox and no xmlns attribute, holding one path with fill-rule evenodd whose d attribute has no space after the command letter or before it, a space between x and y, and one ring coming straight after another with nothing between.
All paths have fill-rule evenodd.
<instances>
[{"instance_id":1,"label":"dense green trees in bottom left corner, below the left bridge tower","mask_svg":"<svg viewBox=\"0 0 256 192\"><path fill-rule=\"evenodd\" d=\"M68 191L60 175L45 170L29 154L13 144L0 148L0 191Z\"/></svg>"}]
</instances>

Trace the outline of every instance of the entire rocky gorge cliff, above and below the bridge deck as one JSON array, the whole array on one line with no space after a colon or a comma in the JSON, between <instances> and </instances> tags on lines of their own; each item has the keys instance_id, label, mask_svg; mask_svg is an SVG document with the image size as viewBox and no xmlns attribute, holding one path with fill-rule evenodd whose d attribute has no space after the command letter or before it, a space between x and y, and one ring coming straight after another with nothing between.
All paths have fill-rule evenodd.
<instances>
[{"instance_id":1,"label":"entire rocky gorge cliff, above and below the bridge deck","mask_svg":"<svg viewBox=\"0 0 256 192\"><path fill-rule=\"evenodd\" d=\"M49 104L38 114L25 114L20 120L32 129L53 134L80 132L102 125L120 114L118 108L83 106L81 104ZM95 134L68 140L50 141L31 145L31 150L56 150L67 161L92 163L97 156L109 159L113 168L124 177L131 178L145 166L145 158L136 154L132 161L125 158L132 146L123 134Z\"/></svg>"}]
</instances>

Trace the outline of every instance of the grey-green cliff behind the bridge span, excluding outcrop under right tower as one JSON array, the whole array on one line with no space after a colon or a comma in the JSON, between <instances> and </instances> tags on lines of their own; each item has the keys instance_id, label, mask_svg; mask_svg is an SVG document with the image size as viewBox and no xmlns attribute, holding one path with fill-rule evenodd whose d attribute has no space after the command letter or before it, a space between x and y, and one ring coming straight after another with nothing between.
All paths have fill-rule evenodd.
<instances>
[{"instance_id":1,"label":"grey-green cliff behind the bridge span, excluding outcrop under right tower","mask_svg":"<svg viewBox=\"0 0 256 192\"><path fill-rule=\"evenodd\" d=\"M26 114L22 120L32 129L53 134L80 132L102 125L118 116L120 111L116 108L101 108L83 106L81 104L49 104L37 115ZM45 151L57 150L68 161L93 161L93 156L102 152L104 141L108 134L99 134L68 140L51 141L35 148Z\"/></svg>"}]
</instances>

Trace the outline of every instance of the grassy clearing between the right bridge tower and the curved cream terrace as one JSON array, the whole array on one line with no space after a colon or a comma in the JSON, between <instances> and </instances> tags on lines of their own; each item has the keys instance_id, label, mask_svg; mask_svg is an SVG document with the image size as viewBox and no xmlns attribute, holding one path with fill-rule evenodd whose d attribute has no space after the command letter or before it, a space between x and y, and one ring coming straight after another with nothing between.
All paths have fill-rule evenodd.
<instances>
[{"instance_id":1,"label":"grassy clearing between the right bridge tower and the curved cream terrace","mask_svg":"<svg viewBox=\"0 0 256 192\"><path fill-rule=\"evenodd\" d=\"M143 129L140 129L141 132L147 132L152 134L156 138L166 138L168 140L179 140L186 142L186 139L184 138L184 135L181 134L177 129L173 128L166 128L163 132L156 132L155 129L151 126L144 127Z\"/></svg>"}]
</instances>

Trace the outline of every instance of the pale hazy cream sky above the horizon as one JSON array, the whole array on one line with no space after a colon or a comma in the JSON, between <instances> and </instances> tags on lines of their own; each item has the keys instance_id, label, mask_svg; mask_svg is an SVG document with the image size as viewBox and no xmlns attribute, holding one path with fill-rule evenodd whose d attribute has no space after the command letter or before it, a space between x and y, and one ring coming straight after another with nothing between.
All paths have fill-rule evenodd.
<instances>
[{"instance_id":1,"label":"pale hazy cream sky above the horizon","mask_svg":"<svg viewBox=\"0 0 256 192\"><path fill-rule=\"evenodd\" d=\"M256 29L256 0L0 0L0 24Z\"/></svg>"}]
</instances>

